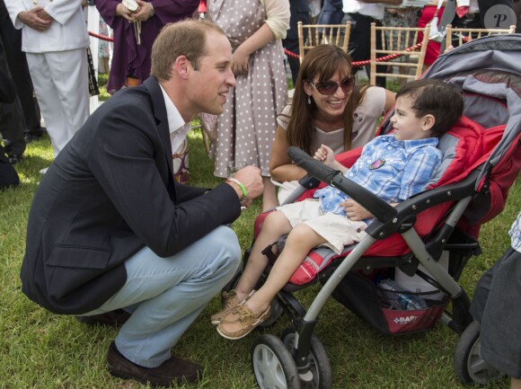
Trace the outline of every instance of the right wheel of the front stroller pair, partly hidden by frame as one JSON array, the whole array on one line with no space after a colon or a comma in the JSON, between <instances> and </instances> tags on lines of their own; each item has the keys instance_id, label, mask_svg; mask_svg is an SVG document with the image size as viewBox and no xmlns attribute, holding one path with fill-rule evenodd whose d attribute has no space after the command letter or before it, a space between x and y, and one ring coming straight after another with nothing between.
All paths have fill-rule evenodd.
<instances>
[{"instance_id":1,"label":"right wheel of the front stroller pair, partly hidden by frame","mask_svg":"<svg viewBox=\"0 0 521 389\"><path fill-rule=\"evenodd\" d=\"M295 355L296 332L293 327L282 332L282 341L291 355ZM322 342L314 335L311 336L311 352L309 353L310 370L305 377L300 377L303 389L331 389L331 363Z\"/></svg>"}]
</instances>

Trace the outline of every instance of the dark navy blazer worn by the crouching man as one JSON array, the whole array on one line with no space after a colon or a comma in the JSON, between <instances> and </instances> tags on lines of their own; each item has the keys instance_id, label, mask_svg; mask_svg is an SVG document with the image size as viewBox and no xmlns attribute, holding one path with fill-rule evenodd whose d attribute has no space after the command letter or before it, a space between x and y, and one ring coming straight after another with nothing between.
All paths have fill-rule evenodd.
<instances>
[{"instance_id":1,"label":"dark navy blazer worn by the crouching man","mask_svg":"<svg viewBox=\"0 0 521 389\"><path fill-rule=\"evenodd\" d=\"M57 314L90 312L125 284L124 262L144 246L171 256L239 217L230 185L204 194L173 180L171 148L153 77L94 111L36 191L23 293Z\"/></svg>"}]
</instances>

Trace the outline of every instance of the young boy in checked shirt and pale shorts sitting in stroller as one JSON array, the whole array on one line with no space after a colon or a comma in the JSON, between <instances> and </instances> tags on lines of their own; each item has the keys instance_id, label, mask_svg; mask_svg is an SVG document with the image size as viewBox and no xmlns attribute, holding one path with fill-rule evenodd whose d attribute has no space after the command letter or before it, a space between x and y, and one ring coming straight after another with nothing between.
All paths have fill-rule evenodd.
<instances>
[{"instance_id":1,"label":"young boy in checked shirt and pale shorts sitting in stroller","mask_svg":"<svg viewBox=\"0 0 521 389\"><path fill-rule=\"evenodd\" d=\"M393 134L375 137L351 169L336 162L328 146L322 145L314 158L395 205L428 186L441 162L437 137L455 124L463 109L463 95L454 87L436 80L411 82L396 95ZM366 235L372 215L356 201L332 187L317 190L314 198L278 207L266 217L243 276L224 309L211 317L225 338L240 339L269 317L271 300L313 247L326 245L341 252ZM254 291L268 263L261 251L285 234L284 250L266 283Z\"/></svg>"}]
</instances>

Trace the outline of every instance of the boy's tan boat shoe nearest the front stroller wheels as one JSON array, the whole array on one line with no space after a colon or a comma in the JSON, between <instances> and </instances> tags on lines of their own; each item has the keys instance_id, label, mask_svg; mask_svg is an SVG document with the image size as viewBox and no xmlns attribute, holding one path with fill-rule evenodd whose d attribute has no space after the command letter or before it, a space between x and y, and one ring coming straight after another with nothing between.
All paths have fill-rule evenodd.
<instances>
[{"instance_id":1,"label":"boy's tan boat shoe nearest the front stroller wheels","mask_svg":"<svg viewBox=\"0 0 521 389\"><path fill-rule=\"evenodd\" d=\"M217 325L217 332L229 340L241 339L269 318L270 306L260 315L253 314L244 305L238 305Z\"/></svg>"}]
</instances>

